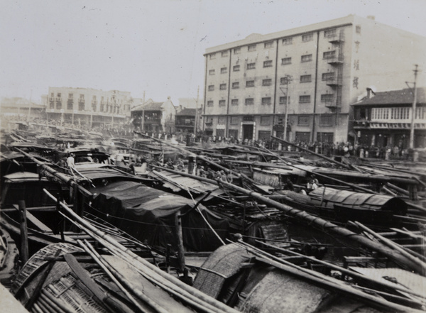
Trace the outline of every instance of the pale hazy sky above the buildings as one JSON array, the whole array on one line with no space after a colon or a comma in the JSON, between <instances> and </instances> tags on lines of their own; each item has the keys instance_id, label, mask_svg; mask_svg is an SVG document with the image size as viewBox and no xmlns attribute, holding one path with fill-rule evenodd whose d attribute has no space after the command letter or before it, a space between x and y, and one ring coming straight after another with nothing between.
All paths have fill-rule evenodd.
<instances>
[{"instance_id":1,"label":"pale hazy sky above the buildings","mask_svg":"<svg viewBox=\"0 0 426 313\"><path fill-rule=\"evenodd\" d=\"M425 0L2 0L0 97L48 87L200 99L206 48L349 14L426 36ZM426 69L420 69L426 75Z\"/></svg>"}]
</instances>

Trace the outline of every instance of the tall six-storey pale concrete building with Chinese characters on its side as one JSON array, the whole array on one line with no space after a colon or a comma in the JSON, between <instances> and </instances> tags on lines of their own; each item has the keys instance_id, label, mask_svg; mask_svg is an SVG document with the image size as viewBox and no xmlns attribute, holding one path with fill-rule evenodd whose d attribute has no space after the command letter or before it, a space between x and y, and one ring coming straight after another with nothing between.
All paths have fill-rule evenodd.
<instances>
[{"instance_id":1,"label":"tall six-storey pale concrete building with Chinese characters on its side","mask_svg":"<svg viewBox=\"0 0 426 313\"><path fill-rule=\"evenodd\" d=\"M350 104L366 87L405 87L425 52L426 38L358 16L208 48L203 130L269 140L286 125L290 141L346 141Z\"/></svg>"}]
</instances>

